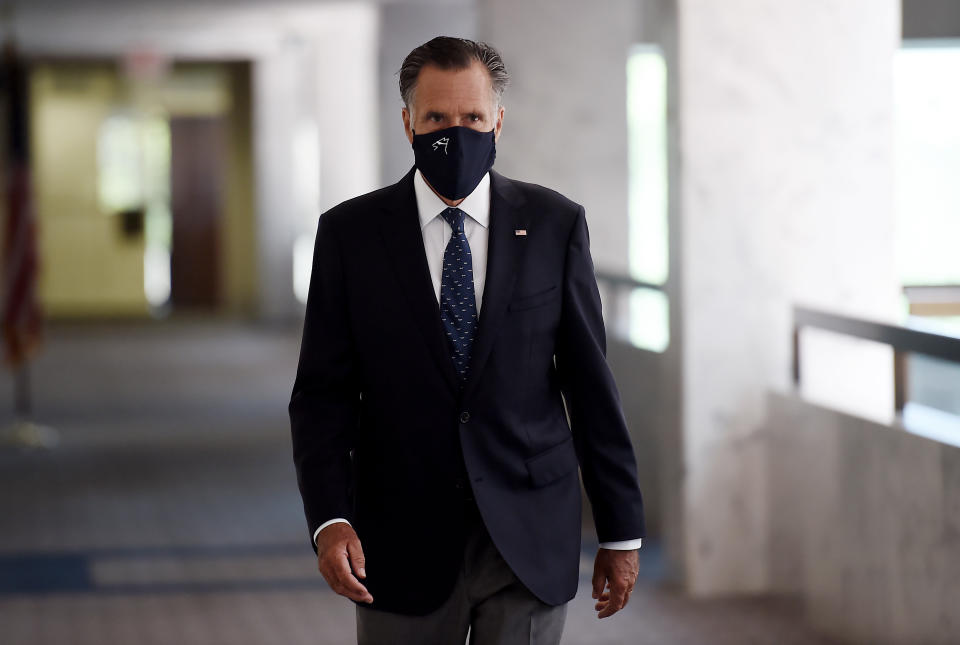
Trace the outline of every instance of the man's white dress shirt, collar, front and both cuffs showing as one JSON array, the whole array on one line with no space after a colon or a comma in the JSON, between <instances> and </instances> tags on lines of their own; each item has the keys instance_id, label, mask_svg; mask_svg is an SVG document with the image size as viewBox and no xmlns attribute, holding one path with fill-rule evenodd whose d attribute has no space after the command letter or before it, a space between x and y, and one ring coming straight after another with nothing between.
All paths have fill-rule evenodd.
<instances>
[{"instance_id":1,"label":"man's white dress shirt, collar, front and both cuffs showing","mask_svg":"<svg viewBox=\"0 0 960 645\"><path fill-rule=\"evenodd\" d=\"M440 302L440 278L443 272L443 253L447 242L453 234L453 229L447 220L440 216L447 204L440 199L433 189L427 185L418 169L413 177L413 188L417 197L417 210L420 214L420 232L423 234L423 248L427 254L427 266L430 267L430 278L433 280L433 291ZM487 239L490 231L490 173L488 172L473 189L473 192L457 204L457 208L467 214L463 218L463 233L470 245L470 257L473 260L473 291L477 298L477 314L480 314L480 305L483 301L483 286L487 277ZM317 535L324 528L334 522L347 522L342 517L335 517L320 525L313 533L316 543ZM349 522L347 522L349 524ZM630 550L640 548L641 538L623 540L620 542L601 542L604 549Z\"/></svg>"}]
</instances>

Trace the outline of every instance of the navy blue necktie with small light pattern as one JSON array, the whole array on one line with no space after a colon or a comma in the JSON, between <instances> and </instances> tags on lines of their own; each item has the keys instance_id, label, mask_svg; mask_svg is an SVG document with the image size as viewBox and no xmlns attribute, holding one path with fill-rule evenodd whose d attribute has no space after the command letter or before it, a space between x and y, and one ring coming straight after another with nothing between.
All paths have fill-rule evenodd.
<instances>
[{"instance_id":1,"label":"navy blue necktie with small light pattern","mask_svg":"<svg viewBox=\"0 0 960 645\"><path fill-rule=\"evenodd\" d=\"M453 363L460 374L460 386L467 380L470 368L470 347L477 334L477 301L473 292L473 258L463 233L465 213L447 208L440 216L453 234L443 252L443 274L440 279L440 320L450 341Z\"/></svg>"}]
</instances>

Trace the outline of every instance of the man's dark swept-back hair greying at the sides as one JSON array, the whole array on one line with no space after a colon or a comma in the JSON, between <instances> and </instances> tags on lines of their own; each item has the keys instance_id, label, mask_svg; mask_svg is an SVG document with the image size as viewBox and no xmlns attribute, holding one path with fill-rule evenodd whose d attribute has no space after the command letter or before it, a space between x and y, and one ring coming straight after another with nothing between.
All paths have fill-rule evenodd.
<instances>
[{"instance_id":1,"label":"man's dark swept-back hair greying at the sides","mask_svg":"<svg viewBox=\"0 0 960 645\"><path fill-rule=\"evenodd\" d=\"M417 77L424 65L435 65L440 69L466 69L478 61L487 68L490 74L490 85L493 89L493 98L500 105L503 90L510 82L510 75L503 64L500 52L484 42L477 42L467 38L453 38L437 36L415 48L403 59L400 66L400 97L403 104L410 109L413 103L413 92L417 88Z\"/></svg>"}]
</instances>

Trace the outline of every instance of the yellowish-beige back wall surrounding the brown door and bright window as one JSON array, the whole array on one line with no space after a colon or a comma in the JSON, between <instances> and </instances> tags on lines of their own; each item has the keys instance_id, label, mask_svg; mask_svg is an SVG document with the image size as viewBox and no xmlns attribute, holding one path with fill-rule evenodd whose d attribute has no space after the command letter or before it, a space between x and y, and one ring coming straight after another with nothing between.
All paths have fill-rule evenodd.
<instances>
[{"instance_id":1,"label":"yellowish-beige back wall surrounding the brown door and bright window","mask_svg":"<svg viewBox=\"0 0 960 645\"><path fill-rule=\"evenodd\" d=\"M221 226L223 310L256 300L249 67L178 65L160 84L126 87L113 63L46 62L31 77L40 299L51 317L147 316L142 237L126 239L98 199L97 138L112 110L149 105L168 117L227 123Z\"/></svg>"}]
</instances>

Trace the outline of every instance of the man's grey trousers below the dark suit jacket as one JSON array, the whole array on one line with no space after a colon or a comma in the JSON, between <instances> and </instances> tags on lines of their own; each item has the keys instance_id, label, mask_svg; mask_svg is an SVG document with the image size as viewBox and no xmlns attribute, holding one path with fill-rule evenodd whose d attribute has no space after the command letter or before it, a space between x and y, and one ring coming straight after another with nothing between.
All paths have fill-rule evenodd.
<instances>
[{"instance_id":1,"label":"man's grey trousers below the dark suit jacket","mask_svg":"<svg viewBox=\"0 0 960 645\"><path fill-rule=\"evenodd\" d=\"M463 563L450 597L426 616L357 605L358 645L462 645L468 631L470 645L560 642L566 603L547 605L520 582L494 546L475 506L468 521Z\"/></svg>"}]
</instances>

